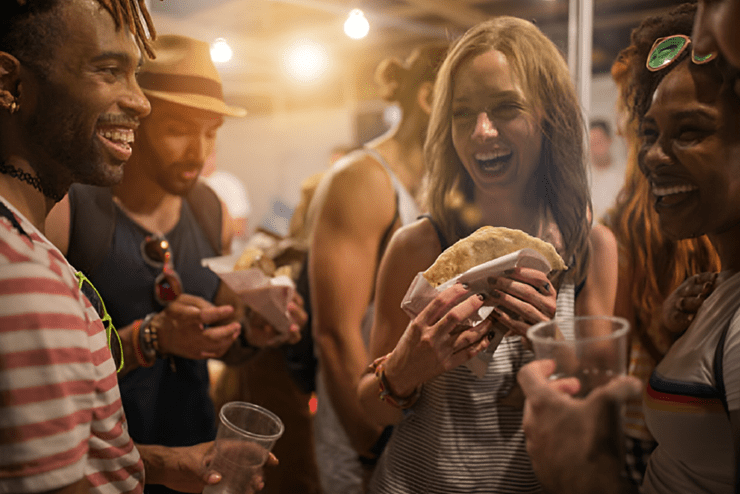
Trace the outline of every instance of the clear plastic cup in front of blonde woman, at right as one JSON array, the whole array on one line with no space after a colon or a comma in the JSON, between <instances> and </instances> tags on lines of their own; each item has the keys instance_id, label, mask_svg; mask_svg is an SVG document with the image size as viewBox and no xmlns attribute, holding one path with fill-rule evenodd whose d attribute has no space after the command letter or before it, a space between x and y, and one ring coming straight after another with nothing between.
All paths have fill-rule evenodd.
<instances>
[{"instance_id":1,"label":"clear plastic cup in front of blonde woman, at right","mask_svg":"<svg viewBox=\"0 0 740 494\"><path fill-rule=\"evenodd\" d=\"M556 363L551 379L577 377L586 396L627 372L629 323L613 316L555 318L527 331L535 358Z\"/></svg>"}]
</instances>

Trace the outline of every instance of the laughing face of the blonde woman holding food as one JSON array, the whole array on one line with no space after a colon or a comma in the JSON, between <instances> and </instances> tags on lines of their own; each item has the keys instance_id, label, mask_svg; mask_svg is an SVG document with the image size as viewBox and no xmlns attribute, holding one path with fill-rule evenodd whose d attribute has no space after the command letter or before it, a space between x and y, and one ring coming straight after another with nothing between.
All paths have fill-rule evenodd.
<instances>
[{"instance_id":1,"label":"laughing face of the blonde woman holding food","mask_svg":"<svg viewBox=\"0 0 740 494\"><path fill-rule=\"evenodd\" d=\"M472 55L452 87L452 143L473 179L476 197L523 197L530 191L542 132L506 56Z\"/></svg>"}]
</instances>

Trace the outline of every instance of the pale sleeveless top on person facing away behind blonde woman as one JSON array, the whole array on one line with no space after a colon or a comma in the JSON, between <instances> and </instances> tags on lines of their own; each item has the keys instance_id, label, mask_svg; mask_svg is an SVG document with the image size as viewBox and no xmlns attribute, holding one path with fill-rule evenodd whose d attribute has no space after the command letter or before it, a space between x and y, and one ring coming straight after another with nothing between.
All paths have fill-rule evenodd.
<instances>
[{"instance_id":1,"label":"pale sleeveless top on person facing away behind blonde woman","mask_svg":"<svg viewBox=\"0 0 740 494\"><path fill-rule=\"evenodd\" d=\"M383 157L375 150L364 148L365 152L383 165L388 176L391 178L393 189L396 194L396 215L401 225L409 224L419 216L419 208L413 196L406 190L401 181L391 171ZM395 218L391 223L395 223ZM381 244L385 243L385 239ZM380 245L379 248L383 248ZM382 254L379 252L379 255ZM371 302L362 320L362 337L365 346L370 341L370 330L373 324L374 305ZM321 364L316 379L316 397L318 408L314 416L314 428L316 437L316 461L319 467L319 477L324 494L361 494L362 489L362 465L358 459L357 452L350 445L349 438L344 432L344 427L339 421L331 398L323 382Z\"/></svg>"}]
</instances>

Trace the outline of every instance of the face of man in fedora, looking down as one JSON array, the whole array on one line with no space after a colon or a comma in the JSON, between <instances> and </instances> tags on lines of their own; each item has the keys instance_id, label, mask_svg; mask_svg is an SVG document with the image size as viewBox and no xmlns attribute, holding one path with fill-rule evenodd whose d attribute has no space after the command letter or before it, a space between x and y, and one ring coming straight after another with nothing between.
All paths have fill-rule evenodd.
<instances>
[{"instance_id":1,"label":"face of man in fedora, looking down","mask_svg":"<svg viewBox=\"0 0 740 494\"><path fill-rule=\"evenodd\" d=\"M223 117L152 98L152 114L138 133L137 170L170 194L187 194L216 145Z\"/></svg>"}]
</instances>

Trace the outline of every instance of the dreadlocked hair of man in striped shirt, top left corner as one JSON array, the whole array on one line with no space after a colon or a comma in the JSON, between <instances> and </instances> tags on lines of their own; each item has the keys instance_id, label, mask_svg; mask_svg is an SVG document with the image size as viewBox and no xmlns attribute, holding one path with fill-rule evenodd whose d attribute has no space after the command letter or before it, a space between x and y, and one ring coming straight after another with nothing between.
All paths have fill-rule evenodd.
<instances>
[{"instance_id":1,"label":"dreadlocked hair of man in striped shirt, top left corner","mask_svg":"<svg viewBox=\"0 0 740 494\"><path fill-rule=\"evenodd\" d=\"M11 53L43 77L53 47L63 32L55 10L67 0L4 0L0 3L0 51ZM113 18L116 29L127 27L139 47L154 58L154 23L144 0L97 0Z\"/></svg>"}]
</instances>

